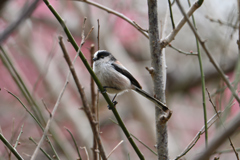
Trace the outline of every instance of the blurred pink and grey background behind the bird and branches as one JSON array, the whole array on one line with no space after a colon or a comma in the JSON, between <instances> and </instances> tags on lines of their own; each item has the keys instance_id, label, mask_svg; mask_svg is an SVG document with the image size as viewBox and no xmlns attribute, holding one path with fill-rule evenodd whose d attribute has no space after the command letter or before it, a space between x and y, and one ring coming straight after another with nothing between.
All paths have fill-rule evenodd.
<instances>
[{"instance_id":1,"label":"blurred pink and grey background behind the bird and branches","mask_svg":"<svg viewBox=\"0 0 240 160\"><path fill-rule=\"evenodd\" d=\"M0 33L3 33L32 2L33 0L1 1ZM146 1L94 0L94 2L120 12L134 20L142 28L148 29ZM194 2L191 0L191 3ZM71 0L50 0L50 3L64 19L78 45L80 45L82 39L84 18L87 18L85 34L94 27L94 30L81 49L89 63L91 59L89 51L91 45L95 45L95 51L98 48L97 20L99 19L100 49L111 52L129 69L140 82L143 89L153 95L151 76L145 69L145 67L151 67L149 42L143 34L125 20L89 4ZM168 2L167 0L160 0L158 3L159 30L161 35L166 36L172 30L168 13ZM181 0L181 3L185 10L189 8L186 0ZM176 4L173 4L172 9L174 21L177 24L182 15ZM229 79L234 81L238 59L237 1L205 1L194 13L194 16L197 30L201 37L206 40L211 54L229 76ZM165 21L166 17L167 21ZM163 30L164 25L167 26L167 29ZM58 21L41 1L33 14L23 21L1 44L5 54L3 56L3 51L1 50L0 128L1 133L14 144L21 126L24 125L20 138L21 144L17 147L18 152L24 159L30 159L35 149L35 144L28 138L33 137L38 142L42 136L42 131L18 100L5 89L19 97L31 112L36 113L38 116L41 115L42 119L47 121L49 113L44 105L52 111L69 72L58 44L59 36L63 36L66 49L73 59L76 51L68 42ZM181 29L171 42L171 45L187 53L197 51L195 37L188 25ZM173 111L173 115L168 122L169 156L171 159L174 159L184 150L204 125L201 77L196 55L179 53L170 47L166 48L165 55L167 64L166 101L168 107ZM6 64L7 59L11 61L16 72L9 64ZM206 88L211 94L212 101L218 110L223 111L227 106L231 106L223 113L223 121L227 123L239 111L239 106L237 103L234 103L235 101L232 101L231 93L226 89L225 84L204 52L202 52L202 59ZM89 104L91 104L90 75L80 58L77 58L75 62L75 69L81 84L84 86ZM29 96L26 96L26 91L21 89L24 86L18 84L19 79L16 73L22 78L22 82L25 84L25 88L29 91L32 99L26 98ZM118 96L117 101L117 110L129 132L155 150L154 104L133 91ZM215 111L208 100L207 94L206 105L207 116L210 119L215 114ZM36 106L39 107L38 110L34 109ZM65 127L71 130L78 146L87 148L90 159L92 159L93 135L85 113L79 109L81 106L80 96L72 77L70 77L49 133L49 137L53 141L61 159L77 159L78 157L74 143ZM138 159L119 126L110 119L115 120L112 112L107 109L107 103L99 95L99 125L106 154L121 140L124 140L110 156L110 159L128 159L128 154L131 159ZM221 123L216 122L210 128L209 139L214 137L220 126ZM240 146L240 137L237 133L232 137L236 148ZM136 144L146 159L157 159L152 152L138 141L136 141ZM202 135L195 147L183 159L192 159L204 145L204 135ZM42 147L50 155L53 154L47 142L44 142ZM226 149L230 149L229 142L226 142L219 150ZM80 149L80 152L83 159L86 159L84 149ZM215 154L214 156L219 155ZM233 152L229 152L221 154L220 157L221 159L233 159L235 155ZM38 153L37 159L45 158L41 152ZM9 159L3 143L0 143L0 159ZM11 159L15 159L15 157L12 155Z\"/></svg>"}]
</instances>

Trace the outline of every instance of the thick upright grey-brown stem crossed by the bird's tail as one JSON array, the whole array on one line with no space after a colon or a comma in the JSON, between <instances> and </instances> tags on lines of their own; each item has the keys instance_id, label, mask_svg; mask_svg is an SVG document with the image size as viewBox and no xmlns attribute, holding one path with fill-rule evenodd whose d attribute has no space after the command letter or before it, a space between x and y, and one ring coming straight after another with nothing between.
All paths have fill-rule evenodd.
<instances>
[{"instance_id":1,"label":"thick upright grey-brown stem crossed by the bird's tail","mask_svg":"<svg viewBox=\"0 0 240 160\"><path fill-rule=\"evenodd\" d=\"M165 102L164 67L162 48L159 45L157 0L148 0L149 45L152 58L154 92L157 98ZM156 107L156 134L158 159L168 159L167 125L163 122L164 112Z\"/></svg>"}]
</instances>

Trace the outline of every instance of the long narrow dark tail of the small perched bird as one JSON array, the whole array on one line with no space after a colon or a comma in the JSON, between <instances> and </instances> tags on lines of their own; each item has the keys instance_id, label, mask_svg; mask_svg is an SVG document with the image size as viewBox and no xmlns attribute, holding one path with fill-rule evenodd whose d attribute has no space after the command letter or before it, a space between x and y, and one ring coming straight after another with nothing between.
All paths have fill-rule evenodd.
<instances>
[{"instance_id":1,"label":"long narrow dark tail of the small perched bird","mask_svg":"<svg viewBox=\"0 0 240 160\"><path fill-rule=\"evenodd\" d=\"M138 92L139 94L141 94L142 96L146 97L148 100L152 101L153 103L155 103L160 109L162 109L164 112L168 111L168 107L166 106L166 104L162 103L161 101L159 101L158 99L154 98L153 96L149 95L147 92L145 92L144 90L135 87L134 90L136 92Z\"/></svg>"}]
</instances>

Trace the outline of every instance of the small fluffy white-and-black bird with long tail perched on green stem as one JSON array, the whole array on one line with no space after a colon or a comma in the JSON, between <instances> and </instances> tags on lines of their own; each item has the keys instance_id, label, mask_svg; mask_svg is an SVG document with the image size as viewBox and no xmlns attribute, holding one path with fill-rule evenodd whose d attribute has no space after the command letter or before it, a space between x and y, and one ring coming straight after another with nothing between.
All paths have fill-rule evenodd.
<instances>
[{"instance_id":1,"label":"small fluffy white-and-black bird with long tail perched on green stem","mask_svg":"<svg viewBox=\"0 0 240 160\"><path fill-rule=\"evenodd\" d=\"M155 103L163 111L168 110L164 103L142 90L138 81L111 53L99 50L94 54L93 61L93 71L106 91L109 94L115 94L112 100L115 104L117 102L114 99L117 94L134 90Z\"/></svg>"}]
</instances>

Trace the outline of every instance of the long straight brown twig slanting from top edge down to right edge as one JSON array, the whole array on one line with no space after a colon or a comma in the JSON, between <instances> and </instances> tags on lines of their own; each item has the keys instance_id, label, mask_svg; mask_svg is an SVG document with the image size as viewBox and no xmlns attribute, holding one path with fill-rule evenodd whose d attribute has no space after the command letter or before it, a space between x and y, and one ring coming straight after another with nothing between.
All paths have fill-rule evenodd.
<instances>
[{"instance_id":1,"label":"long straight brown twig slanting from top edge down to right edge","mask_svg":"<svg viewBox=\"0 0 240 160\"><path fill-rule=\"evenodd\" d=\"M222 77L222 79L224 80L224 82L226 83L226 85L228 86L228 88L230 89L230 91L232 92L233 96L235 97L235 99L238 101L238 103L240 104L240 98L238 96L238 94L236 93L236 91L234 90L234 88L232 87L230 81L228 80L228 77L224 74L223 70L219 67L218 63L215 61L215 59L212 57L212 55L210 54L207 46L205 45L205 41L202 41L202 39L200 38L199 34L197 33L196 29L194 28L194 26L191 24L191 22L189 21L189 15L187 15L182 7L182 5L180 4L179 0L176 0L178 7L180 9L180 11L182 12L182 14L184 15L184 18L187 20L188 25L190 26L191 30L193 31L195 37L198 39L199 43L201 44L202 48L204 49L205 53L207 54L210 62L213 64L213 66L215 67L215 69L217 70L217 72L219 73L219 75Z\"/></svg>"}]
</instances>

